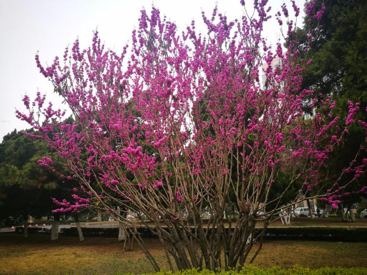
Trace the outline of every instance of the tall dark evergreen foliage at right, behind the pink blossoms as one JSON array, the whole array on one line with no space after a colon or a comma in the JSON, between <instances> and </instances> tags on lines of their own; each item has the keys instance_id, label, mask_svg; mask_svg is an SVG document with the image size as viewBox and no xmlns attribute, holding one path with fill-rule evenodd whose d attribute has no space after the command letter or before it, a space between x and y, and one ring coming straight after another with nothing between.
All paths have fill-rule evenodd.
<instances>
[{"instance_id":1,"label":"tall dark evergreen foliage at right, behind the pink blossoms","mask_svg":"<svg viewBox=\"0 0 367 275\"><path fill-rule=\"evenodd\" d=\"M337 101L334 108L334 116L342 119L341 124L348 113L348 101L359 102L362 112L356 115L356 119L365 121L367 113L367 1L365 0L325 0L317 3L316 10L320 9L321 3L326 6L321 19L322 25L320 36L311 43L310 51L304 56L301 49L306 41L299 45L301 58L312 63L303 72L303 89L315 91L314 97L323 98L331 96ZM311 19L309 23L308 20ZM311 24L311 25L310 25ZM298 38L304 37L307 29L315 29L319 24L311 18L304 19L304 27L297 30ZM307 105L307 104L305 104ZM305 106L305 112L312 110ZM329 133L334 135L335 133ZM328 170L332 178L338 175L341 169L347 167L349 162L356 156L361 143L366 137L364 129L354 126L345 135L343 144L329 159ZM359 155L357 163L360 163L366 155ZM344 175L338 182L345 184L351 180L351 175ZM349 184L345 192L353 192L364 186L366 177ZM325 192L330 186L325 185ZM341 198L344 205L351 206L361 200L358 194Z\"/></svg>"}]
</instances>

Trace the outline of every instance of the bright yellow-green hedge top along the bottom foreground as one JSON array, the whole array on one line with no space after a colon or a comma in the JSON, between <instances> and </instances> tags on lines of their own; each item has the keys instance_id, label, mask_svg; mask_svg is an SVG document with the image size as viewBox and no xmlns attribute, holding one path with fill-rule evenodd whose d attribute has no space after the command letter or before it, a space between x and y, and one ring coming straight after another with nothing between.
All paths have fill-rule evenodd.
<instances>
[{"instance_id":1,"label":"bright yellow-green hedge top along the bottom foreground","mask_svg":"<svg viewBox=\"0 0 367 275\"><path fill-rule=\"evenodd\" d=\"M118 273L120 274L120 273ZM197 270L184 270L181 272L161 271L157 273L151 273L149 275L366 275L367 268L365 267L353 267L353 268L341 268L341 267L323 267L319 269L309 269L299 266L294 266L291 269L282 269L280 267L272 268L258 268L254 266L248 266L240 272L234 271L197 271Z\"/></svg>"}]
</instances>

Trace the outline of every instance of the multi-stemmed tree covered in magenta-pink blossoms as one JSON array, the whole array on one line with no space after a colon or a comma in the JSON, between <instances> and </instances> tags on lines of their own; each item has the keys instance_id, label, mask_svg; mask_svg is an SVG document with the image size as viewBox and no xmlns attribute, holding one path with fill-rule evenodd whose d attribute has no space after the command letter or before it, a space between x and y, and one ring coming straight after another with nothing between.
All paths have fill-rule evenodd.
<instances>
[{"instance_id":1,"label":"multi-stemmed tree covered in magenta-pink blossoms","mask_svg":"<svg viewBox=\"0 0 367 275\"><path fill-rule=\"evenodd\" d=\"M322 197L336 207L343 186L320 171L327 171L324 162L347 127L358 123L359 105L350 103L344 129L336 128L336 121L345 118L332 116L335 103L329 99L314 118L303 118L313 92L300 90L300 74L310 61L298 59L295 25L285 5L276 18L280 25L282 17L287 19L288 48L277 43L273 52L261 36L271 17L266 2L254 1L253 15L245 12L234 22L216 8L211 18L203 13L206 35L195 31L194 22L178 32L153 7L151 16L141 11L130 52L127 46L121 54L105 49L95 32L91 47L81 50L77 40L63 61L56 57L46 69L36 55L41 73L75 118L64 123L64 113L51 103L44 107L40 93L32 103L24 97L29 113L17 111L39 130L34 138L46 139L63 157L70 172L65 177L80 183L75 201L56 211L97 201L126 226L159 270L143 239L134 234L136 223L115 206L129 209L159 237L171 268L173 259L179 269L214 270L243 266L259 241L252 262L275 211L303 200L302 189L307 196L328 184L327 194L309 197ZM307 4L307 13L315 13L315 3ZM322 12L315 18L320 20ZM281 62L274 68L275 58ZM265 85L259 81L263 62ZM308 104L312 108L315 102ZM339 177L353 175L351 184L365 172L366 162L351 160ZM54 169L50 159L40 163ZM282 170L291 176L270 200ZM300 186L298 195L280 203L295 185ZM203 219L205 209L210 209L208 219ZM263 227L259 234L256 223Z\"/></svg>"}]
</instances>

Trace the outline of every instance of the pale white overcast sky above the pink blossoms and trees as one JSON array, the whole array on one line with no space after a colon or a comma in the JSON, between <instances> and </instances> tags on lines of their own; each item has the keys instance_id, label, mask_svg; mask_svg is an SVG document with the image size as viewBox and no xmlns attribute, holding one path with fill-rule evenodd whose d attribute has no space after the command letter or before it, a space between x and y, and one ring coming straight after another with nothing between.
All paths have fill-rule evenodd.
<instances>
[{"instance_id":1,"label":"pale white overcast sky above the pink blossoms and trees","mask_svg":"<svg viewBox=\"0 0 367 275\"><path fill-rule=\"evenodd\" d=\"M245 1L251 6L252 0ZM65 47L72 45L77 37L81 48L89 46L92 31L98 27L105 45L121 52L122 47L131 41L131 32L138 25L142 7L150 12L154 3L161 14L176 22L179 29L184 29L192 19L201 23L201 11L211 14L216 2L218 10L229 19L242 16L239 0L0 0L0 141L15 128L29 128L14 113L15 108L23 111L22 96L25 93L32 99L38 89L47 94L47 101L56 102L55 107L60 106L57 96L52 93L52 85L35 65L37 51L44 65L46 62L51 64L53 58L62 56ZM269 2L274 15L283 0ZM291 11L289 0L285 3ZM296 3L303 11L304 0L296 0ZM203 27L199 24L197 29ZM277 23L267 23L264 34L276 42L279 36Z\"/></svg>"}]
</instances>

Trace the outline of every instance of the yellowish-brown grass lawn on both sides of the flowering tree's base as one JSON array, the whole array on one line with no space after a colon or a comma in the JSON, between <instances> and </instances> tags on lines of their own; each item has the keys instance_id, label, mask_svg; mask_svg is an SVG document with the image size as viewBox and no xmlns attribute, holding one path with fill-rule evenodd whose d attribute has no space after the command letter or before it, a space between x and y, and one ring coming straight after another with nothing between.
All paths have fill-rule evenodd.
<instances>
[{"instance_id":1,"label":"yellowish-brown grass lawn on both sides of the flowering tree's base","mask_svg":"<svg viewBox=\"0 0 367 275\"><path fill-rule=\"evenodd\" d=\"M158 262L166 263L156 238L146 239ZM256 248L256 247L255 247ZM259 267L295 264L319 268L324 266L367 267L366 243L321 241L266 241L254 261ZM123 252L122 244L111 237L60 236L51 242L48 235L30 234L28 239L15 233L0 234L0 274L116 274L153 272L144 254L136 248Z\"/></svg>"}]
</instances>

